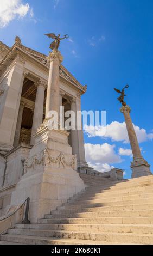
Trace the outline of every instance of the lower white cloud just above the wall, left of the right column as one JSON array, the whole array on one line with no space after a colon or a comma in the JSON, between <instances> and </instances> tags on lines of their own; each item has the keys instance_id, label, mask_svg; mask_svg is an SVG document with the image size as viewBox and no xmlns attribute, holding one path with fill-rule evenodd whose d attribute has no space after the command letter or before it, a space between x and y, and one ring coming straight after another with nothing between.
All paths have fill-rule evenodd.
<instances>
[{"instance_id":1,"label":"lower white cloud just above the wall, left of the right column","mask_svg":"<svg viewBox=\"0 0 153 256\"><path fill-rule=\"evenodd\" d=\"M115 145L108 143L104 144L91 144L85 143L85 154L87 163L95 170L106 172L113 166L112 163L120 163L122 159L114 151Z\"/></svg>"}]
</instances>

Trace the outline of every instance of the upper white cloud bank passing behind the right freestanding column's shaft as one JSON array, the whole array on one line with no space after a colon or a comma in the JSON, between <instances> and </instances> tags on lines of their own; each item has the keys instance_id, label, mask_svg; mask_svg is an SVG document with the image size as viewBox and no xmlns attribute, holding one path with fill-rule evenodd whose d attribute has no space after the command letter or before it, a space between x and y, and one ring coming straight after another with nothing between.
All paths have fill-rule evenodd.
<instances>
[{"instance_id":1,"label":"upper white cloud bank passing behind the right freestanding column's shaft","mask_svg":"<svg viewBox=\"0 0 153 256\"><path fill-rule=\"evenodd\" d=\"M138 142L144 142L148 139L153 139L153 133L146 133L146 130L140 128L139 126L133 124ZM129 137L127 135L126 124L119 123L117 121L112 122L111 124L104 126L85 126L85 133L88 137L103 137L111 138L112 141L123 141L123 143L129 143ZM91 129L92 128L92 129Z\"/></svg>"}]
</instances>

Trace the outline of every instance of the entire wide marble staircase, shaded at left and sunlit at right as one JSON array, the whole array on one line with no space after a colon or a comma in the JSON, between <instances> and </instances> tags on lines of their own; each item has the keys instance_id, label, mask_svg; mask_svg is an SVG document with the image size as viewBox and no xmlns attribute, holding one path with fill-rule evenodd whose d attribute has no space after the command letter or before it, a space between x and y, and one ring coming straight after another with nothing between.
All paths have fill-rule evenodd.
<instances>
[{"instance_id":1,"label":"entire wide marble staircase, shaded at left and sunlit at right","mask_svg":"<svg viewBox=\"0 0 153 256\"><path fill-rule=\"evenodd\" d=\"M0 244L153 244L153 175L86 188L35 224L16 224Z\"/></svg>"}]
</instances>

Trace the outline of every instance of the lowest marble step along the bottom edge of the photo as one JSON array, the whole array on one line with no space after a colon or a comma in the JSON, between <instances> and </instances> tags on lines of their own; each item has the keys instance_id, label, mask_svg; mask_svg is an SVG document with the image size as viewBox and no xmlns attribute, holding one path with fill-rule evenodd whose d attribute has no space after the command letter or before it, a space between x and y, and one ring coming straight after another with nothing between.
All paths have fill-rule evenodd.
<instances>
[{"instance_id":1,"label":"lowest marble step along the bottom edge of the photo","mask_svg":"<svg viewBox=\"0 0 153 256\"><path fill-rule=\"evenodd\" d=\"M47 238L41 236L27 236L27 235L3 235L1 236L3 241L12 243L12 241L20 241L25 245L118 245L120 243L117 242L107 242L107 241L91 241L91 240L83 240L83 239L56 239L56 238ZM5 243L4 243L5 244ZM123 243L125 245L133 244L133 243Z\"/></svg>"}]
</instances>

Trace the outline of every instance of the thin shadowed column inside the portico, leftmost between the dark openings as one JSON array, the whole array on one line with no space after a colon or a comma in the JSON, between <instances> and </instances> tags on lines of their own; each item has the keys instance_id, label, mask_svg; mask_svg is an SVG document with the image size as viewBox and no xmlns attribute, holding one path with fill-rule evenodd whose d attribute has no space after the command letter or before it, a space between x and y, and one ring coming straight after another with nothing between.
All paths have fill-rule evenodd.
<instances>
[{"instance_id":1,"label":"thin shadowed column inside the portico, leftmost between the dark openings","mask_svg":"<svg viewBox=\"0 0 153 256\"><path fill-rule=\"evenodd\" d=\"M22 124L22 115L23 115L24 107L25 107L25 104L24 104L24 102L21 101L19 111L18 111L18 117L17 117L17 124L16 124L15 138L14 138L14 147L17 147L19 144L21 124Z\"/></svg>"}]
</instances>

